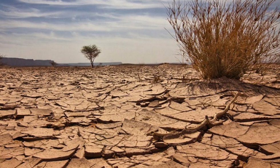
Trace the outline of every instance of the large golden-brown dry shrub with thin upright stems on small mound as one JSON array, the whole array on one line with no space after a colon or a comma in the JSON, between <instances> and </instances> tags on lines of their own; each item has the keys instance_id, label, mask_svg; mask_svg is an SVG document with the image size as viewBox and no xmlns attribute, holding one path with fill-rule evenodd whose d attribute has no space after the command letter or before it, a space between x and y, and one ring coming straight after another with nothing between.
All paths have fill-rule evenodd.
<instances>
[{"instance_id":1,"label":"large golden-brown dry shrub with thin upright stems on small mound","mask_svg":"<svg viewBox=\"0 0 280 168\"><path fill-rule=\"evenodd\" d=\"M240 79L280 60L275 0L173 1L167 7L180 54L203 79Z\"/></svg>"}]
</instances>

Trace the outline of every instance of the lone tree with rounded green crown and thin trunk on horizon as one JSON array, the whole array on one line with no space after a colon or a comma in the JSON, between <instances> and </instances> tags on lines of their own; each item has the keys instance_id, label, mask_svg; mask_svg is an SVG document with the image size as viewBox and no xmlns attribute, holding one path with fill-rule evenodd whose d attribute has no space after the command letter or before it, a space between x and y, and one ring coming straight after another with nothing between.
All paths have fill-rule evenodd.
<instances>
[{"instance_id":1,"label":"lone tree with rounded green crown and thin trunk on horizon","mask_svg":"<svg viewBox=\"0 0 280 168\"><path fill-rule=\"evenodd\" d=\"M81 53L85 55L85 58L89 59L91 67L93 68L93 61L101 53L101 50L96 45L89 45L83 46Z\"/></svg>"}]
</instances>

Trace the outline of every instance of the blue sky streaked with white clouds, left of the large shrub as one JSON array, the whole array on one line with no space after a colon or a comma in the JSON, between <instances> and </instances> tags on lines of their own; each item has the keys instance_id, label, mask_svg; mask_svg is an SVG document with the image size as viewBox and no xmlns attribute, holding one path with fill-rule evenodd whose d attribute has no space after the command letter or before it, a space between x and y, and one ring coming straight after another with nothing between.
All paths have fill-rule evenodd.
<instances>
[{"instance_id":1,"label":"blue sky streaked with white clouds, left of the large shrub","mask_svg":"<svg viewBox=\"0 0 280 168\"><path fill-rule=\"evenodd\" d=\"M96 44L95 62L177 62L167 30L169 0L1 0L0 53L7 57L88 62L80 53ZM179 57L181 59L181 57Z\"/></svg>"}]
</instances>

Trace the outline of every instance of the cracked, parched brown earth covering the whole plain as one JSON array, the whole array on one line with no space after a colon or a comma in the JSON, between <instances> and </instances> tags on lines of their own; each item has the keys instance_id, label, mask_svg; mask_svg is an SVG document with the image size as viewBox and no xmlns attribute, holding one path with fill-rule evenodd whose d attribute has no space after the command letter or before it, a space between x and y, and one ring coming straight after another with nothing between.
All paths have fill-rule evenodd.
<instances>
[{"instance_id":1,"label":"cracked, parched brown earth covering the whole plain","mask_svg":"<svg viewBox=\"0 0 280 168\"><path fill-rule=\"evenodd\" d=\"M0 168L280 167L279 69L3 67Z\"/></svg>"}]
</instances>

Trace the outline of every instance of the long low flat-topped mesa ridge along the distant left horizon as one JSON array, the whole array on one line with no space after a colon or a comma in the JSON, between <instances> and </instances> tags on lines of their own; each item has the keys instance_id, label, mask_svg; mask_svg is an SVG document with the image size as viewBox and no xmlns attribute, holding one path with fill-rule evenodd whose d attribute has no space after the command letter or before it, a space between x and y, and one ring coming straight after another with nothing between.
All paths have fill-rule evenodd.
<instances>
[{"instance_id":1,"label":"long low flat-topped mesa ridge along the distant left horizon","mask_svg":"<svg viewBox=\"0 0 280 168\"><path fill-rule=\"evenodd\" d=\"M23 58L2 58L1 62L9 66L52 66L52 60L33 60ZM119 65L122 62L93 63L93 65ZM58 63L57 66L91 66L90 63Z\"/></svg>"}]
</instances>

